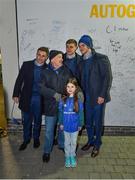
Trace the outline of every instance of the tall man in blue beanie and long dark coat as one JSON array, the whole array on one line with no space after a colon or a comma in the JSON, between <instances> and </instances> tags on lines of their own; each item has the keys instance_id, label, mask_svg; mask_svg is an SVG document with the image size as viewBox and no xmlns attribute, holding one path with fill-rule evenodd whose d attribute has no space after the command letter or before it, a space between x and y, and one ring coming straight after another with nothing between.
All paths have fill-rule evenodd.
<instances>
[{"instance_id":1,"label":"tall man in blue beanie and long dark coat","mask_svg":"<svg viewBox=\"0 0 135 180\"><path fill-rule=\"evenodd\" d=\"M92 148L91 157L96 157L102 144L105 104L111 100L111 65L106 55L95 52L90 36L83 35L78 44L83 58L79 63L79 80L85 95L85 125L88 135L88 142L82 150Z\"/></svg>"}]
</instances>

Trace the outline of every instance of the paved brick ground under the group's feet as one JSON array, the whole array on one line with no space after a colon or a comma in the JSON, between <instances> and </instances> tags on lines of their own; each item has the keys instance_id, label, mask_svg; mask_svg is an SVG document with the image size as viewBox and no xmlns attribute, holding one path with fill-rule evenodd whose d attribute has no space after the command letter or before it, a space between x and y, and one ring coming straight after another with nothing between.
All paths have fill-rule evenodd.
<instances>
[{"instance_id":1,"label":"paved brick ground under the group's feet","mask_svg":"<svg viewBox=\"0 0 135 180\"><path fill-rule=\"evenodd\" d=\"M54 146L48 164L42 162L43 131L41 146L33 149L33 142L23 152L18 151L21 133L10 133L0 139L0 178L19 179L135 179L135 138L104 136L99 156L91 158L90 151L80 147L87 141L79 140L76 168L64 167L64 154Z\"/></svg>"}]
</instances>

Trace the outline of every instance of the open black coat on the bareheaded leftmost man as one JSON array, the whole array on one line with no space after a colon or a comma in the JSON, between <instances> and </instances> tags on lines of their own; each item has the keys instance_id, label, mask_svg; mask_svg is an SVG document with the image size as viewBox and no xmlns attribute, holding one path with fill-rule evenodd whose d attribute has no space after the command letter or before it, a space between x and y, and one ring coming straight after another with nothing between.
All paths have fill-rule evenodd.
<instances>
[{"instance_id":1,"label":"open black coat on the bareheaded leftmost man","mask_svg":"<svg viewBox=\"0 0 135 180\"><path fill-rule=\"evenodd\" d=\"M19 97L19 108L29 112L34 78L34 61L23 62L15 82L13 97ZM43 68L47 65L45 64Z\"/></svg>"}]
</instances>

